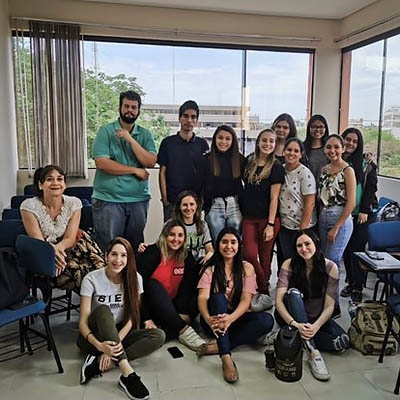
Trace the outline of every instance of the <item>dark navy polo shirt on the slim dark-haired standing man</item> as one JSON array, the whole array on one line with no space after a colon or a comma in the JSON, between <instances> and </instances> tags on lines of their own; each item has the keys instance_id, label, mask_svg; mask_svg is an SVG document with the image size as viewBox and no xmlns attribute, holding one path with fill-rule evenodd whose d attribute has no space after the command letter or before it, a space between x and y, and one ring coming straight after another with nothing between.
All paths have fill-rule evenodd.
<instances>
[{"instance_id":1,"label":"dark navy polo shirt on the slim dark-haired standing man","mask_svg":"<svg viewBox=\"0 0 400 400\"><path fill-rule=\"evenodd\" d=\"M201 159L207 150L205 139L196 135L189 141L182 139L179 133L163 139L157 162L167 167L167 195L170 203L174 203L183 190L201 194L204 183Z\"/></svg>"}]
</instances>

